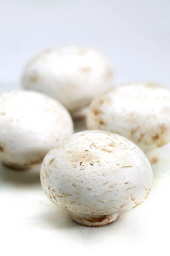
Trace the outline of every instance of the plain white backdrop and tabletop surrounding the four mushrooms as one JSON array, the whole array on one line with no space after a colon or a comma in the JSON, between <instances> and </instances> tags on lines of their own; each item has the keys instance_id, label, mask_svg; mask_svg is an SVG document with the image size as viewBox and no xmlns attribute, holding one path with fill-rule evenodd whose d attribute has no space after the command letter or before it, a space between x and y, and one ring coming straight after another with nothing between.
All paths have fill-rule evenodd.
<instances>
[{"instance_id":1,"label":"plain white backdrop and tabletop surrounding the four mushrooms","mask_svg":"<svg viewBox=\"0 0 170 256\"><path fill-rule=\"evenodd\" d=\"M97 48L115 68L115 83L170 87L170 1L0 0L0 91L20 88L27 59L55 45ZM169 255L168 152L164 146L153 165L147 200L101 228L79 226L49 202L38 168L0 165L0 255Z\"/></svg>"}]
</instances>

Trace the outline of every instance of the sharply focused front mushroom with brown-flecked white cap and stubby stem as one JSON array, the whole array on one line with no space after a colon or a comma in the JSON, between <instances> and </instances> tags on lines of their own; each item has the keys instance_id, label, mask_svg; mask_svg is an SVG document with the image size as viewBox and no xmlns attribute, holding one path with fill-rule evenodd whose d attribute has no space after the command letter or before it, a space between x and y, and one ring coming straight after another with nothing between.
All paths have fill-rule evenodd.
<instances>
[{"instance_id":1,"label":"sharply focused front mushroom with brown-flecked white cap and stubby stem","mask_svg":"<svg viewBox=\"0 0 170 256\"><path fill-rule=\"evenodd\" d=\"M49 199L85 226L103 226L150 192L152 168L133 142L99 130L77 132L49 151L41 166Z\"/></svg>"}]
</instances>

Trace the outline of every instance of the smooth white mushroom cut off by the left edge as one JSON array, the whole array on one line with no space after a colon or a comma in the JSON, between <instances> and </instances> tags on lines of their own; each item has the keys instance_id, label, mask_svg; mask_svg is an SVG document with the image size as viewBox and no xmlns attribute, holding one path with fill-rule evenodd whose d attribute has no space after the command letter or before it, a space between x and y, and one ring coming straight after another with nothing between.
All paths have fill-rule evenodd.
<instances>
[{"instance_id":1,"label":"smooth white mushroom cut off by the left edge","mask_svg":"<svg viewBox=\"0 0 170 256\"><path fill-rule=\"evenodd\" d=\"M0 94L0 159L7 165L41 163L71 133L70 114L49 96L24 90Z\"/></svg>"}]
</instances>

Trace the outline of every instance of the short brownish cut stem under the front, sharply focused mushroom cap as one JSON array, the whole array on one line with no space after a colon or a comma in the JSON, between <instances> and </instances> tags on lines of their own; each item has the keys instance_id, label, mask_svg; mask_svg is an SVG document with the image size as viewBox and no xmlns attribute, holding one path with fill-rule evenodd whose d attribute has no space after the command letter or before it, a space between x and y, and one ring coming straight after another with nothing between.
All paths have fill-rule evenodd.
<instances>
[{"instance_id":1,"label":"short brownish cut stem under the front, sharply focused mushroom cap","mask_svg":"<svg viewBox=\"0 0 170 256\"><path fill-rule=\"evenodd\" d=\"M117 220L120 213L110 215L91 215L84 213L70 212L71 217L80 225L88 227L101 227Z\"/></svg>"}]
</instances>

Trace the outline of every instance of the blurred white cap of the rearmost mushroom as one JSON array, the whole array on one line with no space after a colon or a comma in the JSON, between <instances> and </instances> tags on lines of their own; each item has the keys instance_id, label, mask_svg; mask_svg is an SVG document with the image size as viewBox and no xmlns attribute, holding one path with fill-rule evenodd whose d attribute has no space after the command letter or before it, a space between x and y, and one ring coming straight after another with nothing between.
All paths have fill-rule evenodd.
<instances>
[{"instance_id":1,"label":"blurred white cap of the rearmost mushroom","mask_svg":"<svg viewBox=\"0 0 170 256\"><path fill-rule=\"evenodd\" d=\"M22 87L44 92L69 111L79 110L113 85L113 68L95 49L65 46L47 49L29 61Z\"/></svg>"}]
</instances>

